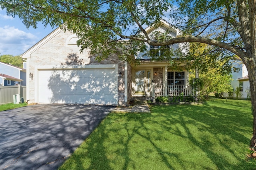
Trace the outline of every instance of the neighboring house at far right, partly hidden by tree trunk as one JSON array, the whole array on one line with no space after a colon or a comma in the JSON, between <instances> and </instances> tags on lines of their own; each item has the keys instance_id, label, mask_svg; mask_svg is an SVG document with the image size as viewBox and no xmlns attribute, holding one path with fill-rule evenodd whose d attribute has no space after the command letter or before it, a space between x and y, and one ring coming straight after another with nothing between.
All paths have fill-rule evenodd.
<instances>
[{"instance_id":1,"label":"neighboring house at far right, partly hidden by tree trunk","mask_svg":"<svg viewBox=\"0 0 256 170\"><path fill-rule=\"evenodd\" d=\"M231 85L234 89L234 94L232 97L236 97L235 90L237 87L240 87L240 92L242 94L241 98L247 98L247 91L250 91L250 83L248 78L248 71L244 63L240 60L233 61L233 65L236 68L240 68L239 72L232 72L232 78ZM226 94L224 93L224 97L226 97ZM227 94L227 97L228 94Z\"/></svg>"}]
</instances>

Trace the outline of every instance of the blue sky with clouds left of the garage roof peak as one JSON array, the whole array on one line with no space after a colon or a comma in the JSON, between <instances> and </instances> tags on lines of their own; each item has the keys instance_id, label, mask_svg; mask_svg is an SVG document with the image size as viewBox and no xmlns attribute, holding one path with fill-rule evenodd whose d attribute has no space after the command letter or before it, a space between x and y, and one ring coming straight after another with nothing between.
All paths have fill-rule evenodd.
<instances>
[{"instance_id":1,"label":"blue sky with clouds left of the garage roof peak","mask_svg":"<svg viewBox=\"0 0 256 170\"><path fill-rule=\"evenodd\" d=\"M21 55L53 30L42 24L27 29L18 16L12 18L0 9L0 55Z\"/></svg>"}]
</instances>

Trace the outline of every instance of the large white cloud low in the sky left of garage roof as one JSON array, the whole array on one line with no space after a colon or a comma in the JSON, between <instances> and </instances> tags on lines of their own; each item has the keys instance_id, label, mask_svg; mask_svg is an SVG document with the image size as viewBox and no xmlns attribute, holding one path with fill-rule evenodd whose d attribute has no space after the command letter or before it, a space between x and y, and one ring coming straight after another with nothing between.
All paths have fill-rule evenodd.
<instances>
[{"instance_id":1,"label":"large white cloud low in the sky left of garage roof","mask_svg":"<svg viewBox=\"0 0 256 170\"><path fill-rule=\"evenodd\" d=\"M38 41L32 33L26 33L15 27L0 27L0 54L20 55Z\"/></svg>"}]
</instances>

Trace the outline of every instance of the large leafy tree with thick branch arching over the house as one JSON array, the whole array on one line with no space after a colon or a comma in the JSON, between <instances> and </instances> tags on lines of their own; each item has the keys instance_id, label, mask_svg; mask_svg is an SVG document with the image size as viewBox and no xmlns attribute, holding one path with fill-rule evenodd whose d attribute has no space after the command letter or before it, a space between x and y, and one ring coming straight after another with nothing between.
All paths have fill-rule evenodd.
<instances>
[{"instance_id":1,"label":"large leafy tree with thick branch arching over the house","mask_svg":"<svg viewBox=\"0 0 256 170\"><path fill-rule=\"evenodd\" d=\"M173 4L175 3L174 6ZM118 52L126 61L131 54L156 46L198 42L231 52L243 61L249 74L254 116L251 147L256 148L256 3L254 0L0 0L2 9L18 16L27 27L61 25L78 35L81 50L90 48L98 60ZM176 8L175 8L176 7ZM155 32L149 37L142 25L160 24L166 12L183 35L172 38ZM64 23L62 25L62 23ZM128 40L122 43L120 40Z\"/></svg>"}]
</instances>

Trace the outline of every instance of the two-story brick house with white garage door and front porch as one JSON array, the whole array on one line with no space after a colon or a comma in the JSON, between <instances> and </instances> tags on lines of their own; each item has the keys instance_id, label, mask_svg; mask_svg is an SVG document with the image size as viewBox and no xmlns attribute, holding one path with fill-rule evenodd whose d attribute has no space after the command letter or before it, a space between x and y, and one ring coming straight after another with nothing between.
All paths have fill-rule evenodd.
<instances>
[{"instance_id":1,"label":"two-story brick house with white garage door and front porch","mask_svg":"<svg viewBox=\"0 0 256 170\"><path fill-rule=\"evenodd\" d=\"M171 28L166 21L158 31ZM180 31L171 28L170 36ZM149 35L156 29L146 28ZM138 53L140 65L120 61L116 54L98 62L90 50L80 53L71 32L57 28L22 54L27 68L28 103L126 105L135 97L184 96L192 94L188 71L170 68L168 61L151 61ZM182 48L183 44L173 45ZM148 50L158 49L148 45ZM159 52L160 53L160 52Z\"/></svg>"}]
</instances>

